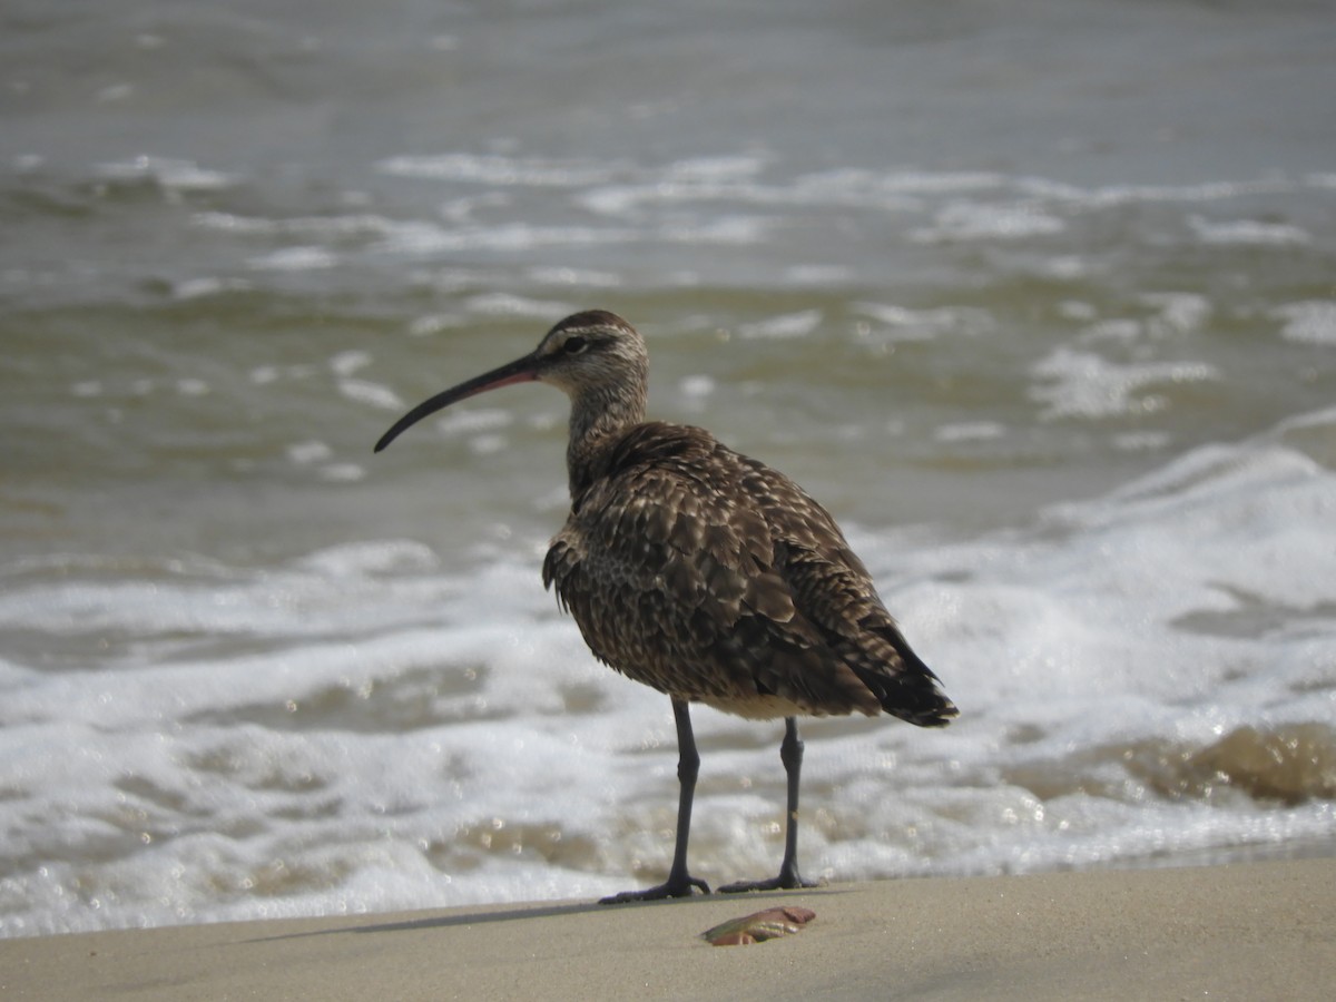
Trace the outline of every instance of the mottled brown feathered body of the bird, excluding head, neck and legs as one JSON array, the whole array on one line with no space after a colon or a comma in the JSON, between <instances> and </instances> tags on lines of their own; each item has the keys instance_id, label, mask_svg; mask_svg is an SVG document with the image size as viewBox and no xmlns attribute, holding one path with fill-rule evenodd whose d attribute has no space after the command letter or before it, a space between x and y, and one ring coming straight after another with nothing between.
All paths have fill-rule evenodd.
<instances>
[{"instance_id":1,"label":"mottled brown feathered body of the bird, excluding head, neck and legs","mask_svg":"<svg viewBox=\"0 0 1336 1002\"><path fill-rule=\"evenodd\" d=\"M556 585L597 657L743 715L954 708L831 517L708 432L641 425L552 542Z\"/></svg>"}]
</instances>

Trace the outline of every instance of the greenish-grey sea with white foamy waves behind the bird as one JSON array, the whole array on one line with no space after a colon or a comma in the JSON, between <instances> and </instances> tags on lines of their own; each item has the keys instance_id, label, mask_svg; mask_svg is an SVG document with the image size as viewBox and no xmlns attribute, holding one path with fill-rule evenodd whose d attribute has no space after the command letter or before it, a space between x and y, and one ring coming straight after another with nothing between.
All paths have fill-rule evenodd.
<instances>
[{"instance_id":1,"label":"greenish-grey sea with white foamy waves behind the bird","mask_svg":"<svg viewBox=\"0 0 1336 1002\"><path fill-rule=\"evenodd\" d=\"M961 719L822 720L832 880L1336 852L1336 5L11 0L0 935L661 879L668 700L542 591L605 307ZM696 712L692 864L779 723Z\"/></svg>"}]
</instances>

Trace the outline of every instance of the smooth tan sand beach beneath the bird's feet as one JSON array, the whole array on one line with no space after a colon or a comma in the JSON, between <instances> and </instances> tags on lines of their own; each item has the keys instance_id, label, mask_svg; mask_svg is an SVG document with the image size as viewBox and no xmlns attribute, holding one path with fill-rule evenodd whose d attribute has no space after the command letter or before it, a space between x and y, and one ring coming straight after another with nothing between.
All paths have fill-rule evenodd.
<instances>
[{"instance_id":1,"label":"smooth tan sand beach beneath the bird's feet","mask_svg":"<svg viewBox=\"0 0 1336 1002\"><path fill-rule=\"evenodd\" d=\"M0 942L5 999L1319 999L1336 860L834 884ZM800 933L712 947L772 904Z\"/></svg>"}]
</instances>

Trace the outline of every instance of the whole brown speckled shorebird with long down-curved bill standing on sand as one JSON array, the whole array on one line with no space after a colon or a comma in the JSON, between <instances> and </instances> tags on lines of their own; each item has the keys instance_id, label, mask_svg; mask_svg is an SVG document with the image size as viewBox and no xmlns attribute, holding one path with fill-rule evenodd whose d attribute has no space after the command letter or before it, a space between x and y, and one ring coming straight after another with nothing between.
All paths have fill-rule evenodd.
<instances>
[{"instance_id":1,"label":"whole brown speckled shorebird with long down-curved bill standing on sand","mask_svg":"<svg viewBox=\"0 0 1336 1002\"><path fill-rule=\"evenodd\" d=\"M668 879L603 903L680 898L709 886L687 868L700 756L692 703L783 717L788 780L779 875L720 891L811 887L798 868L803 743L796 717L886 712L919 727L957 708L886 611L835 520L794 481L700 428L645 421L649 355L616 314L566 317L522 358L399 418L375 452L442 407L545 382L570 398L570 514L542 582L595 657L672 700L677 830Z\"/></svg>"}]
</instances>

